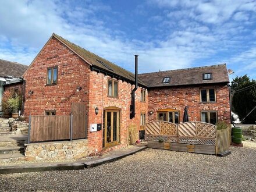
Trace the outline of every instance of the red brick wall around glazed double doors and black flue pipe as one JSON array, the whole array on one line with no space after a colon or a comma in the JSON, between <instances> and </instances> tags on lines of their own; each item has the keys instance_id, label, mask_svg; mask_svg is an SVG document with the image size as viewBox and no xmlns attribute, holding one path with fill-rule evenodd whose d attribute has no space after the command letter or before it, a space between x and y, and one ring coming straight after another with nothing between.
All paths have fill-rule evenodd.
<instances>
[{"instance_id":1,"label":"red brick wall around glazed double doors and black flue pipe","mask_svg":"<svg viewBox=\"0 0 256 192\"><path fill-rule=\"evenodd\" d=\"M132 124L136 124L137 128L140 127L140 113L146 112L147 119L147 106L148 99L146 93L146 102L140 102L141 87L138 87L136 91L136 116L134 119L130 119L130 104L131 104L131 90L134 86L131 84L119 80L118 81L118 98L108 97L108 79L110 77L101 73L91 72L90 74L90 94L89 94L89 115L88 123L103 123L103 111L104 108L109 106L115 106L120 108L120 145L113 148L120 148L127 145L127 127ZM147 91L146 91L147 92ZM99 108L98 115L95 115L95 108ZM102 131L97 131L88 134L89 143L92 144L92 148L98 151L102 148ZM108 150L112 150L110 148ZM108 151L106 150L106 151Z\"/></svg>"}]
</instances>

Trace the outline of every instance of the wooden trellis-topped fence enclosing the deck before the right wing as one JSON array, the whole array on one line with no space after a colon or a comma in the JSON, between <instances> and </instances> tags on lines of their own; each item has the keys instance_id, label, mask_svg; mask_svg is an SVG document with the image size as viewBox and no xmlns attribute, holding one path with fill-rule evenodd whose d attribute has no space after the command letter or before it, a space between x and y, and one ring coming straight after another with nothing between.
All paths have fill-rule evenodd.
<instances>
[{"instance_id":1,"label":"wooden trellis-topped fence enclosing the deck before the right wing","mask_svg":"<svg viewBox=\"0 0 256 192\"><path fill-rule=\"evenodd\" d=\"M186 148L189 152L215 154L229 148L229 134L224 132L216 130L215 125L205 122L186 122L176 125L155 121L145 125L145 140L153 148L172 148L177 151Z\"/></svg>"}]
</instances>

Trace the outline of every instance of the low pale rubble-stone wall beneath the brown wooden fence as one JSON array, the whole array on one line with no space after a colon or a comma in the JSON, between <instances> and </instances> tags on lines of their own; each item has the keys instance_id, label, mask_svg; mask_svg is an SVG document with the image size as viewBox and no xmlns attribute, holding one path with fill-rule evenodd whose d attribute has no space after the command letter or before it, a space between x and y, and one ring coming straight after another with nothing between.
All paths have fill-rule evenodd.
<instances>
[{"instance_id":1,"label":"low pale rubble-stone wall beneath the brown wooden fence","mask_svg":"<svg viewBox=\"0 0 256 192\"><path fill-rule=\"evenodd\" d=\"M25 160L40 161L81 159L88 155L88 140L58 141L47 143L27 144Z\"/></svg>"}]
</instances>

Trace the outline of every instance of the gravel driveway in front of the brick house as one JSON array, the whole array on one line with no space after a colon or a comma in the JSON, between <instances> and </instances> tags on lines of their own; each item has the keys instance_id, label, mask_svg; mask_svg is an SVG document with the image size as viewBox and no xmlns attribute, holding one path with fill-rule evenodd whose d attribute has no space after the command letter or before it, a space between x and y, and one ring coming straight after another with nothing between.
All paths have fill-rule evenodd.
<instances>
[{"instance_id":1,"label":"gravel driveway in front of the brick house","mask_svg":"<svg viewBox=\"0 0 256 192\"><path fill-rule=\"evenodd\" d=\"M256 191L256 143L231 151L146 149L92 169L0 175L0 191Z\"/></svg>"}]
</instances>

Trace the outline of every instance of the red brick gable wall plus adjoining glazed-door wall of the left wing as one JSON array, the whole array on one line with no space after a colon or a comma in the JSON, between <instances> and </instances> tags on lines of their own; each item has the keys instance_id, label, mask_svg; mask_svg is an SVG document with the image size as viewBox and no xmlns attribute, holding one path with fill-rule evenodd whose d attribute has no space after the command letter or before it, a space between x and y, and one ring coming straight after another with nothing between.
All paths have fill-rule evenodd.
<instances>
[{"instance_id":1,"label":"red brick gable wall plus adjoining glazed-door wall of the left wing","mask_svg":"<svg viewBox=\"0 0 256 192\"><path fill-rule=\"evenodd\" d=\"M46 86L47 67L58 66L58 83ZM140 126L140 112L147 115L147 102L140 102L140 88L136 91L136 117L130 120L131 84L119 80L118 98L107 97L108 79L102 73L91 72L90 66L55 38L49 40L35 58L33 65L24 74L26 80L26 102L24 115L44 115L45 110L56 110L56 115L69 115L72 102L87 106L87 136L89 153L102 150L102 131L90 132L92 123L103 123L103 109L109 106L120 108L120 145L127 145L127 126ZM77 86L82 90L77 92ZM33 91L29 95L29 91ZM146 95L147 97L147 95ZM148 99L146 99L147 101ZM95 115L95 107L99 108ZM147 118L147 117L146 117Z\"/></svg>"}]
</instances>

